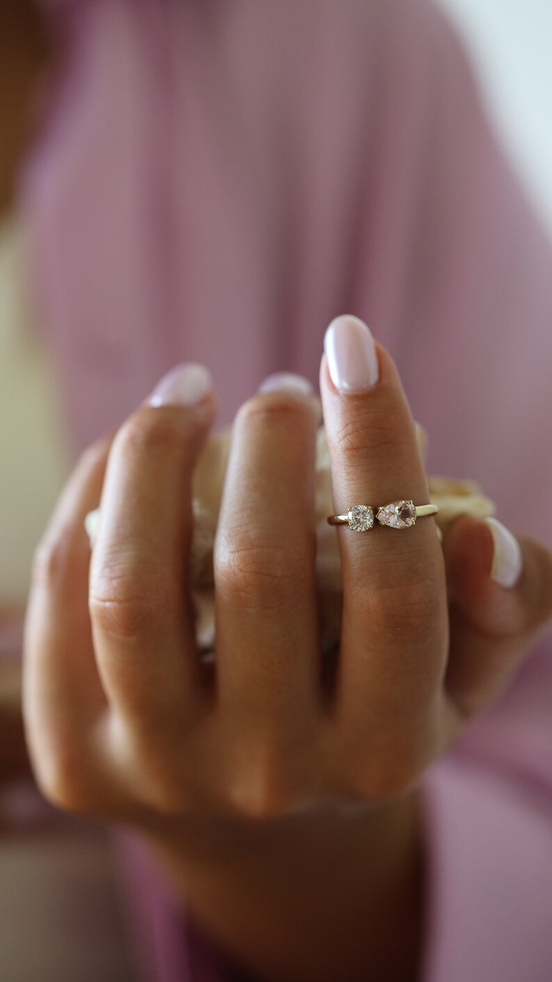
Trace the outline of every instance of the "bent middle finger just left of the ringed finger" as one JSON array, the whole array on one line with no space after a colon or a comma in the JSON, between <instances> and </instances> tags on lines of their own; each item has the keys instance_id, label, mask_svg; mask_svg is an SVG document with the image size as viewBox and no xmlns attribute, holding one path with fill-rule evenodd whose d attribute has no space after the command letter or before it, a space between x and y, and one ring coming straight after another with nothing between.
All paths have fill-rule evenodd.
<instances>
[{"instance_id":1,"label":"bent middle finger just left of the ringed finger","mask_svg":"<svg viewBox=\"0 0 552 982\"><path fill-rule=\"evenodd\" d=\"M281 386L282 388L278 388ZM319 689L314 582L317 400L270 382L234 423L215 544L217 708L263 740L311 731ZM239 716L237 717L237 711ZM250 734L253 734L251 741Z\"/></svg>"}]
</instances>

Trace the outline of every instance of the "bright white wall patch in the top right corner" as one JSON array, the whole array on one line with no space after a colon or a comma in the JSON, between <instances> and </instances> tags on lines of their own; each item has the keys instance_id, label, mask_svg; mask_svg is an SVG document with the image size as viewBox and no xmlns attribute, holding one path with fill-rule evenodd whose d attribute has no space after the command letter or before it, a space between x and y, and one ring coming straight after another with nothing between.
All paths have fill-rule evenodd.
<instances>
[{"instance_id":1,"label":"bright white wall patch in the top right corner","mask_svg":"<svg viewBox=\"0 0 552 982\"><path fill-rule=\"evenodd\" d=\"M469 47L496 129L552 235L552 0L438 0Z\"/></svg>"}]
</instances>

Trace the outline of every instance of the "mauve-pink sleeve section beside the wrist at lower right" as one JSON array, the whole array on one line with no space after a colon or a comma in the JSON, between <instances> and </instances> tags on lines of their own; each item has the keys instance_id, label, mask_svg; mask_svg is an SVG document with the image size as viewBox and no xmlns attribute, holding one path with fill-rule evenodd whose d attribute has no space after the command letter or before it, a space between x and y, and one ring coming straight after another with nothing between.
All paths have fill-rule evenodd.
<instances>
[{"instance_id":1,"label":"mauve-pink sleeve section beside the wrist at lower right","mask_svg":"<svg viewBox=\"0 0 552 982\"><path fill-rule=\"evenodd\" d=\"M434 879L421 977L548 982L550 791L449 761L427 779L425 805Z\"/></svg>"}]
</instances>

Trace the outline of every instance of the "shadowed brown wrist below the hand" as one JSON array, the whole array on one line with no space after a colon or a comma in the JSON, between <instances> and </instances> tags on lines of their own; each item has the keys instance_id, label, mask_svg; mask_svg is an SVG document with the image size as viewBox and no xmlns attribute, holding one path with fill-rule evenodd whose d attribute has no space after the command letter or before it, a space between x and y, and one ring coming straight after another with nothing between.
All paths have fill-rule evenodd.
<instances>
[{"instance_id":1,"label":"shadowed brown wrist below the hand","mask_svg":"<svg viewBox=\"0 0 552 982\"><path fill-rule=\"evenodd\" d=\"M177 825L147 839L189 916L266 982L416 977L419 796L262 823Z\"/></svg>"}]
</instances>

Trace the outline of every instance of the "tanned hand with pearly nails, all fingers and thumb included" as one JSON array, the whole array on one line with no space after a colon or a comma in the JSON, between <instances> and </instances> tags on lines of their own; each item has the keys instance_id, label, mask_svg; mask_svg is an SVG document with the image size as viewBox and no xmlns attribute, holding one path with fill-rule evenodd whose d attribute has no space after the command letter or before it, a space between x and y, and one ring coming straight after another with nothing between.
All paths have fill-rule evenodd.
<instances>
[{"instance_id":1,"label":"tanned hand with pearly nails, all fingers and thumb included","mask_svg":"<svg viewBox=\"0 0 552 982\"><path fill-rule=\"evenodd\" d=\"M134 824L169 853L190 848L200 827L216 828L220 844L222 830L244 823L314 824L334 806L346 821L356 809L343 806L357 804L385 855L390 809L411 809L407 792L497 696L550 616L551 558L472 519L445 550L434 518L400 531L339 529L342 642L323 685L319 409L299 383L268 388L234 426L214 557L215 663L198 658L186 574L193 465L215 411L206 374L173 374L155 405L83 455L34 563L25 644L34 771L62 807ZM397 369L355 318L330 325L320 388L336 512L425 504ZM88 581L83 519L100 494Z\"/></svg>"}]
</instances>

